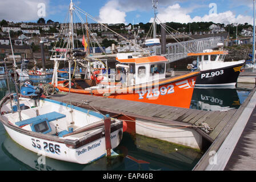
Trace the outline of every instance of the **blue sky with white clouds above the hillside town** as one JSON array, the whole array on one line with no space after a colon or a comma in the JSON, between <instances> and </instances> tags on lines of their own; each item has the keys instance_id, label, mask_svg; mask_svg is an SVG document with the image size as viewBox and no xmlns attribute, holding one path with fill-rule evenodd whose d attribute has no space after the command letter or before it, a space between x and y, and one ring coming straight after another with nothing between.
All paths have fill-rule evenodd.
<instances>
[{"instance_id":1,"label":"blue sky with white clouds above the hillside town","mask_svg":"<svg viewBox=\"0 0 256 182\"><path fill-rule=\"evenodd\" d=\"M74 21L138 24L153 21L152 0L73 0ZM0 0L0 20L66 22L70 0ZM80 11L83 14L79 13ZM158 0L158 22L253 24L253 0Z\"/></svg>"}]
</instances>

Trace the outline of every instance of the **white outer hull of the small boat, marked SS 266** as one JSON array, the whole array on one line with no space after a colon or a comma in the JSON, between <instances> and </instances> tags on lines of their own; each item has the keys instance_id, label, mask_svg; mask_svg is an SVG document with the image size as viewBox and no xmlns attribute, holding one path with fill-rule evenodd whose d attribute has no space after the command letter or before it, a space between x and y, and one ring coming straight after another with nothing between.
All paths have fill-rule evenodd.
<instances>
[{"instance_id":1,"label":"white outer hull of the small boat, marked SS 266","mask_svg":"<svg viewBox=\"0 0 256 182\"><path fill-rule=\"evenodd\" d=\"M4 127L11 139L38 155L79 164L91 163L106 155L105 136L73 149L67 147L65 143L33 137L10 129L10 127L5 125ZM120 133L122 133L122 129L116 130L110 134L112 148L117 147L120 143Z\"/></svg>"}]
</instances>

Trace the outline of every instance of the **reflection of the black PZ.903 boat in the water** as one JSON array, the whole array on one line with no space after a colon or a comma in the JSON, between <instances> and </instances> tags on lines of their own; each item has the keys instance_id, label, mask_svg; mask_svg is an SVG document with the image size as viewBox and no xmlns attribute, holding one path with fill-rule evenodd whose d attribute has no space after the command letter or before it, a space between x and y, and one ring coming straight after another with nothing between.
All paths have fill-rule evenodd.
<instances>
[{"instance_id":1,"label":"reflection of the black PZ.903 boat in the water","mask_svg":"<svg viewBox=\"0 0 256 182\"><path fill-rule=\"evenodd\" d=\"M235 86L194 88L190 108L206 111L226 111L241 106Z\"/></svg>"}]
</instances>

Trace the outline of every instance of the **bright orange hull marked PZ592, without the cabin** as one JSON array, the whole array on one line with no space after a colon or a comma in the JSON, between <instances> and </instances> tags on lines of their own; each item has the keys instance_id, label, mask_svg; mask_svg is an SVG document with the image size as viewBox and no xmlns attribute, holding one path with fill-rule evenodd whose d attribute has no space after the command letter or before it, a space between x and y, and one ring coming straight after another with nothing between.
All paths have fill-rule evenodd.
<instances>
[{"instance_id":1,"label":"bright orange hull marked PZ592, without the cabin","mask_svg":"<svg viewBox=\"0 0 256 182\"><path fill-rule=\"evenodd\" d=\"M157 83L135 85L127 88L118 89L115 86L115 89L70 89L70 92L189 108L198 74L199 72L190 73L186 76L165 78ZM61 81L58 83L61 83ZM57 86L57 88L63 92L69 92L68 87Z\"/></svg>"}]
</instances>

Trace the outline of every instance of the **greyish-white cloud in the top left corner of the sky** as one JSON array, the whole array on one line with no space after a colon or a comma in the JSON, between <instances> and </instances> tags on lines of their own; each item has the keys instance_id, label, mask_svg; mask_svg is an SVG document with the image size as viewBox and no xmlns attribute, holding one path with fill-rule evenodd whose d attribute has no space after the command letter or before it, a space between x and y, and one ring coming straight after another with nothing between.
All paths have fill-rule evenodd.
<instances>
[{"instance_id":1,"label":"greyish-white cloud in the top left corner of the sky","mask_svg":"<svg viewBox=\"0 0 256 182\"><path fill-rule=\"evenodd\" d=\"M37 20L41 18L38 16L39 3L45 3L47 16L49 0L8 0L0 1L0 17L14 22Z\"/></svg>"}]
</instances>

